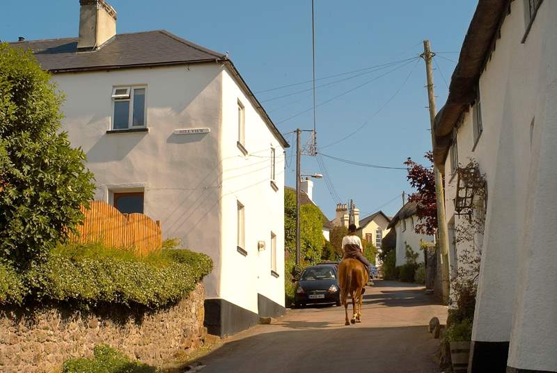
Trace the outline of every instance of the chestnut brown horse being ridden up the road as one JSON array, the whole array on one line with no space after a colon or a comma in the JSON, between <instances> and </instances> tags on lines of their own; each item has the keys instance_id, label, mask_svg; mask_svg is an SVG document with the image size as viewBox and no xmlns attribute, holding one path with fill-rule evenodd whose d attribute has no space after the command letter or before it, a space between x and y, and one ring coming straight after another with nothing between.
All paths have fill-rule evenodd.
<instances>
[{"instance_id":1,"label":"chestnut brown horse being ridden up the road","mask_svg":"<svg viewBox=\"0 0 557 373\"><path fill-rule=\"evenodd\" d=\"M361 301L363 287L368 282L368 273L363 263L357 259L343 259L338 265L338 283L340 285L340 302L344 304L345 325L361 322ZM352 296L352 320L348 322L348 295ZM356 302L358 308L356 310Z\"/></svg>"}]
</instances>

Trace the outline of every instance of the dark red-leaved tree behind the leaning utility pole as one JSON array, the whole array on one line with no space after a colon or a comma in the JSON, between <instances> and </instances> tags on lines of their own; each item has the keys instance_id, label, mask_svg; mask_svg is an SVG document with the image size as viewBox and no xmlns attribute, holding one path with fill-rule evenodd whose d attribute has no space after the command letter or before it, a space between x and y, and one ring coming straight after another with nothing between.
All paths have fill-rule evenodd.
<instances>
[{"instance_id":1,"label":"dark red-leaved tree behind the leaning utility pole","mask_svg":"<svg viewBox=\"0 0 557 373\"><path fill-rule=\"evenodd\" d=\"M408 202L416 203L418 223L414 231L419 234L434 235L437 230L437 202L435 199L435 175L433 171L433 153L426 152L425 159L430 161L430 166L423 166L412 161L409 157L405 161L408 166L407 179L416 193L408 196Z\"/></svg>"}]
</instances>

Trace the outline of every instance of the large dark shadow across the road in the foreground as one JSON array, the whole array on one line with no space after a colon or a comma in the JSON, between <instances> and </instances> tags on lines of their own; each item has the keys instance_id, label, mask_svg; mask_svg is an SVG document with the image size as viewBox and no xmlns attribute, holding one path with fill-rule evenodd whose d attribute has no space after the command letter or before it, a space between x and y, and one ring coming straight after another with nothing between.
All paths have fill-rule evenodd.
<instances>
[{"instance_id":1,"label":"large dark shadow across the road in the foreground","mask_svg":"<svg viewBox=\"0 0 557 373\"><path fill-rule=\"evenodd\" d=\"M425 326L346 326L261 333L227 342L199 362L203 373L437 372L437 345Z\"/></svg>"}]
</instances>

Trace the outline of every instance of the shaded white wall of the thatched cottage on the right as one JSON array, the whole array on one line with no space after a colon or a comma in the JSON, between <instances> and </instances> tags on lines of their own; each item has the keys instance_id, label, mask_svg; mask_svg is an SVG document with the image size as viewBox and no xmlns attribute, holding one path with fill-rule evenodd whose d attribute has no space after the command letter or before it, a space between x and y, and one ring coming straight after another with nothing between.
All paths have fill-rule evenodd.
<instances>
[{"instance_id":1,"label":"shaded white wall of the thatched cottage on the right","mask_svg":"<svg viewBox=\"0 0 557 373\"><path fill-rule=\"evenodd\" d=\"M510 340L509 366L547 371L557 371L556 17L557 2L544 1L521 44L524 2L511 3L480 77L483 134L476 148L471 111L458 129L460 163L478 161L488 192L472 339ZM456 180L449 159L445 169L449 221Z\"/></svg>"}]
</instances>

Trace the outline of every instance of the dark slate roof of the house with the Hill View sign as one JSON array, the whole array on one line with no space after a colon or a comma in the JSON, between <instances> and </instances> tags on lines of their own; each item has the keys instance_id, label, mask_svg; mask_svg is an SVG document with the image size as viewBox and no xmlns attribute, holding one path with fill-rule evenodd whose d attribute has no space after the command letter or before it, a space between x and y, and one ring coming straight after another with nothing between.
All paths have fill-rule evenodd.
<instances>
[{"instance_id":1,"label":"dark slate roof of the house with the Hill View sign","mask_svg":"<svg viewBox=\"0 0 557 373\"><path fill-rule=\"evenodd\" d=\"M78 51L77 39L26 40L10 45L31 49L41 68L50 72L109 70L227 59L225 54L196 45L166 30L119 33L95 51Z\"/></svg>"}]
</instances>

